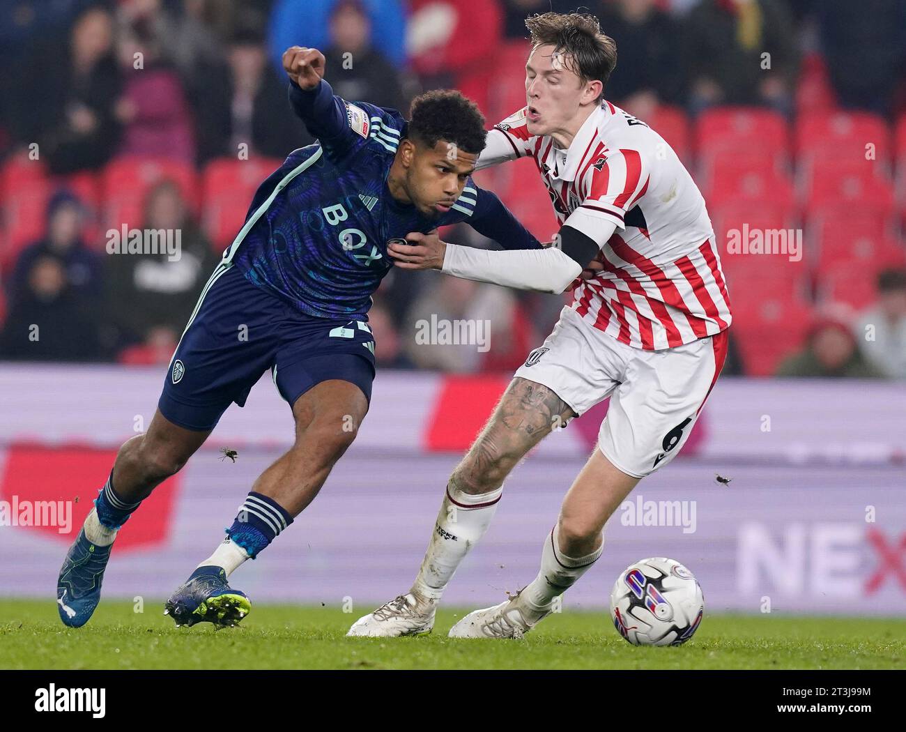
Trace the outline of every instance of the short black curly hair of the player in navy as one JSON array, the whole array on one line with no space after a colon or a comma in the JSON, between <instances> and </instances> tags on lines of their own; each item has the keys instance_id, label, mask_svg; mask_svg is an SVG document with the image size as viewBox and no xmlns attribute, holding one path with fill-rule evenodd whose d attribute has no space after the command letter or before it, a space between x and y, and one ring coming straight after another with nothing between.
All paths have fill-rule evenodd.
<instances>
[{"instance_id":1,"label":"short black curly hair of the player in navy","mask_svg":"<svg viewBox=\"0 0 906 732\"><path fill-rule=\"evenodd\" d=\"M452 142L464 152L477 155L485 149L485 116L474 101L460 92L451 89L425 92L412 100L407 136L429 148L440 140Z\"/></svg>"}]
</instances>

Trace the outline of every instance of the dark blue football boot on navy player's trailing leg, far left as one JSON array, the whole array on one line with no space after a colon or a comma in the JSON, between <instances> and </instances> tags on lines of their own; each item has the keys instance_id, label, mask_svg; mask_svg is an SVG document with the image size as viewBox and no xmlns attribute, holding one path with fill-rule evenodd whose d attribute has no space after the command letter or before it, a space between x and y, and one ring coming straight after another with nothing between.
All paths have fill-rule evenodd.
<instances>
[{"instance_id":1,"label":"dark blue football boot on navy player's trailing leg, far left","mask_svg":"<svg viewBox=\"0 0 906 732\"><path fill-rule=\"evenodd\" d=\"M112 548L113 544L92 544L84 529L69 547L57 579L57 610L64 625L81 628L92 617L101 602L101 581Z\"/></svg>"}]
</instances>

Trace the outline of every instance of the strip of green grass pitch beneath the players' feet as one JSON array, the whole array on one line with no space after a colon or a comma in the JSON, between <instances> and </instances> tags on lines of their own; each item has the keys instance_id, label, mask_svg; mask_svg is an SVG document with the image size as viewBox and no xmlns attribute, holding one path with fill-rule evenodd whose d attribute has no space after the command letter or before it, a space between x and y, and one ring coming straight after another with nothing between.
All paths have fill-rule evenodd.
<instances>
[{"instance_id":1,"label":"strip of green grass pitch beneath the players' feet","mask_svg":"<svg viewBox=\"0 0 906 732\"><path fill-rule=\"evenodd\" d=\"M263 605L238 628L176 628L162 602L101 602L65 628L53 598L0 600L2 669L901 669L906 619L705 615L678 648L635 648L607 612L549 616L525 640L451 640L462 611L428 636L349 639L371 607Z\"/></svg>"}]
</instances>

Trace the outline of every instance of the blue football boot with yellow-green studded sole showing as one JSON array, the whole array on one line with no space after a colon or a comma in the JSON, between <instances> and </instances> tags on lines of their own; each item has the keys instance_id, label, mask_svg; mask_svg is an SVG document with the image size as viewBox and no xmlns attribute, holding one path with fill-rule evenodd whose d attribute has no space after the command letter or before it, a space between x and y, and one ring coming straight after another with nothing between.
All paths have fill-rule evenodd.
<instances>
[{"instance_id":1,"label":"blue football boot with yellow-green studded sole showing","mask_svg":"<svg viewBox=\"0 0 906 732\"><path fill-rule=\"evenodd\" d=\"M213 622L215 628L227 628L238 625L251 610L246 593L232 589L226 571L217 566L198 567L164 604L164 614L177 627Z\"/></svg>"}]
</instances>

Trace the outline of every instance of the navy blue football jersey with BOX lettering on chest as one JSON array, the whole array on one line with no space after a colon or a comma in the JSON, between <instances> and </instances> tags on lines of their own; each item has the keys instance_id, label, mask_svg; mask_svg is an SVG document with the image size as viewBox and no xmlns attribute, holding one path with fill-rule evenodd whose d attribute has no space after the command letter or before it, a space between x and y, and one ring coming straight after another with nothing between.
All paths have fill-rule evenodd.
<instances>
[{"instance_id":1,"label":"navy blue football jersey with BOX lettering on chest","mask_svg":"<svg viewBox=\"0 0 906 732\"><path fill-rule=\"evenodd\" d=\"M252 284L309 315L364 321L393 265L391 239L466 222L508 249L541 246L471 178L436 218L394 200L387 177L408 125L399 111L344 101L325 81L312 92L291 82L289 97L319 142L295 149L265 179L224 253Z\"/></svg>"}]
</instances>

